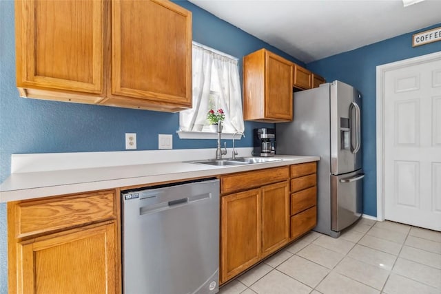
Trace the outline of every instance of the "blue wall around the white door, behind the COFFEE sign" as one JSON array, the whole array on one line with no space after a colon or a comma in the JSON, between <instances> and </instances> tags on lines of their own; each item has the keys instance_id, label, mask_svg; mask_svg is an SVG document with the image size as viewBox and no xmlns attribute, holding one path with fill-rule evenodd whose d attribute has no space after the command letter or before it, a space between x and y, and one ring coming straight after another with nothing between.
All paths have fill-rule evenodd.
<instances>
[{"instance_id":1,"label":"blue wall around the white door, behind the COFFEE sign","mask_svg":"<svg viewBox=\"0 0 441 294\"><path fill-rule=\"evenodd\" d=\"M421 32L441 26L433 25ZM307 64L327 81L339 80L353 85L362 93L362 144L365 186L363 212L377 216L376 180L376 66L441 51L441 41L412 47L412 34L403 34Z\"/></svg>"}]
</instances>

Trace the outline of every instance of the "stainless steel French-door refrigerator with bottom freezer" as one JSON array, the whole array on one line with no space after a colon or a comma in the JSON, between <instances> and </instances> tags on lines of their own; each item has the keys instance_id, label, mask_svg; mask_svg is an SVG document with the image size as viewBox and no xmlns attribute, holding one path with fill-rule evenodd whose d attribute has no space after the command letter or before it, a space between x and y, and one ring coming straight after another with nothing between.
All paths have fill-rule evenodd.
<instances>
[{"instance_id":1,"label":"stainless steel French-door refrigerator with bottom freezer","mask_svg":"<svg viewBox=\"0 0 441 294\"><path fill-rule=\"evenodd\" d=\"M362 215L361 94L334 81L294 93L294 120L276 124L276 154L320 156L317 226L337 238Z\"/></svg>"}]
</instances>

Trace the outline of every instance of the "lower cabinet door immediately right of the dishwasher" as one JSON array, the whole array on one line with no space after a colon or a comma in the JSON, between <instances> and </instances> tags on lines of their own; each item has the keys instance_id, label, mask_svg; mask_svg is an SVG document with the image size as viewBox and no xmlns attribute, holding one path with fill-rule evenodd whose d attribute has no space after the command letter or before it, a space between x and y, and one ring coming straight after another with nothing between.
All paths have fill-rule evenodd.
<instances>
[{"instance_id":1,"label":"lower cabinet door immediately right of the dishwasher","mask_svg":"<svg viewBox=\"0 0 441 294\"><path fill-rule=\"evenodd\" d=\"M223 196L220 218L220 282L260 258L260 190Z\"/></svg>"}]
</instances>

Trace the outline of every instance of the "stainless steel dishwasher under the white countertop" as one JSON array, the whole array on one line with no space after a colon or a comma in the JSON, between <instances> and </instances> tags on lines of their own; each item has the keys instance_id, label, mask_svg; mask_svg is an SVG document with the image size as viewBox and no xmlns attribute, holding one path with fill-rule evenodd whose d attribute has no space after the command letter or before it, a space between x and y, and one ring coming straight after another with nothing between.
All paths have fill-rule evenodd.
<instances>
[{"instance_id":1,"label":"stainless steel dishwasher under the white countertop","mask_svg":"<svg viewBox=\"0 0 441 294\"><path fill-rule=\"evenodd\" d=\"M218 292L219 180L121 191L125 294Z\"/></svg>"}]
</instances>

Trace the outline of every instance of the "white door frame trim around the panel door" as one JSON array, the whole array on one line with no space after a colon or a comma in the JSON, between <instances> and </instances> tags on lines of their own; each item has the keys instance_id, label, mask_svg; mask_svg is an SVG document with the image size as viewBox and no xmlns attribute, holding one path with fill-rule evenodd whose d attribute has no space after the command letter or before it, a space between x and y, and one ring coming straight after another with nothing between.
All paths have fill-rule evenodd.
<instances>
[{"instance_id":1,"label":"white door frame trim around the panel door","mask_svg":"<svg viewBox=\"0 0 441 294\"><path fill-rule=\"evenodd\" d=\"M384 220L384 75L391 70L441 59L441 52L377 66L377 220Z\"/></svg>"}]
</instances>

